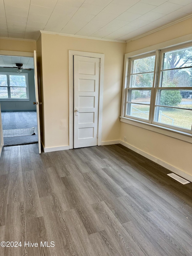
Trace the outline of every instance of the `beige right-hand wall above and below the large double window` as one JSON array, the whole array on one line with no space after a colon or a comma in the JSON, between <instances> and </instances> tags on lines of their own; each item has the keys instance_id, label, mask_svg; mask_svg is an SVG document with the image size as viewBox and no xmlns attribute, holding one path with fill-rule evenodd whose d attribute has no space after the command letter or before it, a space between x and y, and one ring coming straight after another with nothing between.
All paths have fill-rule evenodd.
<instances>
[{"instance_id":1,"label":"beige right-hand wall above and below the large double window","mask_svg":"<svg viewBox=\"0 0 192 256\"><path fill-rule=\"evenodd\" d=\"M192 19L127 43L126 53L192 33ZM192 145L153 131L121 123L121 140L192 175Z\"/></svg>"}]
</instances>

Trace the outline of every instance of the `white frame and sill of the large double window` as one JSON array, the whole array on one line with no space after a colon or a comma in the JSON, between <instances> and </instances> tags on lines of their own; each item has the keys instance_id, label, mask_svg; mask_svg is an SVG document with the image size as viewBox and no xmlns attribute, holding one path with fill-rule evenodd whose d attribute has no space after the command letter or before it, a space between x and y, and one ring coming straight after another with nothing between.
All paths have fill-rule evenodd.
<instances>
[{"instance_id":1,"label":"white frame and sill of the large double window","mask_svg":"<svg viewBox=\"0 0 192 256\"><path fill-rule=\"evenodd\" d=\"M136 51L134 53L139 52L139 54L134 54L131 56L131 53L125 54L125 60L124 60L124 77L123 77L123 91L122 91L122 110L121 110L121 116L120 120L121 122L125 122L131 125L135 125L138 127L142 127L151 131L155 131L161 134L168 135L170 137L178 138L187 142L192 143L192 129L183 129L179 127L174 127L172 125L166 125L166 124L161 124L159 122L154 121L154 115L155 115L155 101L156 101L156 95L158 92L158 89L164 88L164 87L159 87L159 80L160 80L160 69L161 69L161 63L163 61L163 54L165 52L169 52L171 50L177 50L177 49L182 49L186 47L191 47L192 43L190 44L179 44L179 46L174 47L164 47L164 48L159 48L158 50L153 50L153 51L148 51L148 52L141 52L141 50ZM148 48L149 49L149 48ZM160 53L161 51L161 53ZM126 102L127 102L127 87L129 83L129 74L131 70L131 59L140 59L143 58L144 56L150 56L155 53L155 73L154 73L154 84L153 88L151 91L151 104L150 104L150 113L149 113L149 120L145 119L139 119L136 117L132 116L126 116ZM166 87L165 87L166 88ZM178 87L178 89L180 89ZM182 89L190 89L190 87L183 87ZM192 88L191 88L192 89ZM192 113L192 112L191 112Z\"/></svg>"}]
</instances>

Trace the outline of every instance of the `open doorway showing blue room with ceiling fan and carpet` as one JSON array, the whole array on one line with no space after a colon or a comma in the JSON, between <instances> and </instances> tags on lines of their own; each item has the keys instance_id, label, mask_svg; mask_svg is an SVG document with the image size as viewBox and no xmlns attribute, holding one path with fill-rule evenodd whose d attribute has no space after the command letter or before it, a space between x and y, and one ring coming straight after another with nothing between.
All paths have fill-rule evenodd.
<instances>
[{"instance_id":1,"label":"open doorway showing blue room with ceiling fan and carpet","mask_svg":"<svg viewBox=\"0 0 192 256\"><path fill-rule=\"evenodd\" d=\"M33 57L0 56L4 146L38 143L35 101Z\"/></svg>"}]
</instances>

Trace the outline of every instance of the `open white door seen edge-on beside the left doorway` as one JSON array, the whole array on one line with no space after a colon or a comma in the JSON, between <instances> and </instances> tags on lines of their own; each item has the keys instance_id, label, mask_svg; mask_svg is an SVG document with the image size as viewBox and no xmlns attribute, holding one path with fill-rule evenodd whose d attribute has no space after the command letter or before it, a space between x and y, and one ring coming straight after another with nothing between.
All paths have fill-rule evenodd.
<instances>
[{"instance_id":1,"label":"open white door seen edge-on beside the left doorway","mask_svg":"<svg viewBox=\"0 0 192 256\"><path fill-rule=\"evenodd\" d=\"M38 91L38 76L37 76L37 54L34 51L34 76L35 76L35 97L36 97L36 110L37 110L37 129L38 129L38 148L41 154L41 136L40 136L40 118L39 118L39 91Z\"/></svg>"}]
</instances>

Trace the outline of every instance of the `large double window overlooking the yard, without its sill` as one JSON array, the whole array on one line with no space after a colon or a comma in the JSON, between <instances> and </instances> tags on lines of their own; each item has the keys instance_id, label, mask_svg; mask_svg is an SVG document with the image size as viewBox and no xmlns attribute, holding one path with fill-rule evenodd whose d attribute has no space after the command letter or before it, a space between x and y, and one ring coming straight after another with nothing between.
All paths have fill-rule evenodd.
<instances>
[{"instance_id":1,"label":"large double window overlooking the yard, without its sill","mask_svg":"<svg viewBox=\"0 0 192 256\"><path fill-rule=\"evenodd\" d=\"M191 133L192 47L128 59L124 116Z\"/></svg>"}]
</instances>

